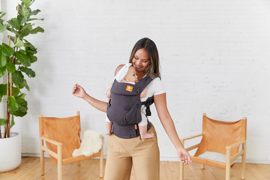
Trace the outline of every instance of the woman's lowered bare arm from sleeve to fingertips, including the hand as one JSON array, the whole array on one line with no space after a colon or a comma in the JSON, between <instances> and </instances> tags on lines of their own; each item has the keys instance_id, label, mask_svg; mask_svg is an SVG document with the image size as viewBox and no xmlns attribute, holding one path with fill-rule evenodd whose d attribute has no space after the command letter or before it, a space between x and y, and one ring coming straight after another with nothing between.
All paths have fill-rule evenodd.
<instances>
[{"instance_id":1,"label":"woman's lowered bare arm from sleeve to fingertips, including the hand","mask_svg":"<svg viewBox=\"0 0 270 180\"><path fill-rule=\"evenodd\" d=\"M190 164L192 162L190 159L190 155L187 150L184 149L176 132L173 119L168 111L166 93L154 95L154 103L158 113L158 118L160 119L161 124L165 129L167 135L169 136L170 140L172 141L173 145L175 146L179 160L185 160L182 163Z\"/></svg>"}]
</instances>

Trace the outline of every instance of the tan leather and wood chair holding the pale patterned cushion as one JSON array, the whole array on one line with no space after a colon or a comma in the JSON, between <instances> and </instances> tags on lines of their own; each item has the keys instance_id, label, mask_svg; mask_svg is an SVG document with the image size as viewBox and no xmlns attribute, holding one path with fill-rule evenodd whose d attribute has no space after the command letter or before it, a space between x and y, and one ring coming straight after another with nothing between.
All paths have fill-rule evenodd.
<instances>
[{"instance_id":1,"label":"tan leather and wood chair holding the pale patterned cushion","mask_svg":"<svg viewBox=\"0 0 270 180\"><path fill-rule=\"evenodd\" d=\"M246 135L247 135L247 118L235 122L224 122L210 119L203 113L202 116L202 134L180 139L183 146L184 141L195 137L202 136L199 144L190 146L187 151L198 148L194 156L190 156L191 161L200 163L201 169L204 165L214 166L226 169L226 180L230 179L230 169L234 165L234 161L242 156L242 172L241 179L245 179L246 164ZM238 148L242 144L242 150L238 152ZM200 158L206 151L217 152L223 154L226 163ZM225 159L226 155L226 159ZM220 157L222 157L220 156ZM184 164L180 163L180 180L184 179Z\"/></svg>"}]
</instances>

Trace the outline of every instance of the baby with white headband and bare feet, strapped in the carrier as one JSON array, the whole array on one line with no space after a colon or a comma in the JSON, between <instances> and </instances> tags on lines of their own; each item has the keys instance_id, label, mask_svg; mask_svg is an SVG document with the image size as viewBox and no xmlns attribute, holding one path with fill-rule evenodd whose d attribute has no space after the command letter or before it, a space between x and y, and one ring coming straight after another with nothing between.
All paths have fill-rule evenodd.
<instances>
[{"instance_id":1,"label":"baby with white headband and bare feet, strapped in the carrier","mask_svg":"<svg viewBox=\"0 0 270 180\"><path fill-rule=\"evenodd\" d=\"M115 77L116 77L116 80L118 82L124 82L124 83L127 82L127 83L131 83L131 84L135 84L135 82L137 82L138 77L136 75L135 68L131 65L132 65L131 63L121 64L116 68ZM126 68L128 68L128 71ZM113 83L110 85L110 88L106 92L107 98L111 98L111 91L110 90L112 88L112 85L113 85ZM145 96L146 96L146 89L144 89L142 91L142 93L140 94L140 98L144 98ZM147 138L154 137L154 134L152 132L146 133L146 131L147 131L147 118L143 113L141 113L141 115L142 115L142 121L140 123L138 123L141 138L147 139ZM106 135L111 134L112 126L113 126L113 122L111 122L110 119L106 116L106 128L107 128Z\"/></svg>"}]
</instances>

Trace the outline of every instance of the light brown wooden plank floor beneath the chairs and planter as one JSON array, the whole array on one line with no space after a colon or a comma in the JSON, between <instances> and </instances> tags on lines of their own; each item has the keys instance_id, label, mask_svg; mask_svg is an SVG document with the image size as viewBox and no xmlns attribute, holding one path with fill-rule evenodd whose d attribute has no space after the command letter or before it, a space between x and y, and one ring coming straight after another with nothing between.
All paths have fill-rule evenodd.
<instances>
[{"instance_id":1,"label":"light brown wooden plank floor beneath the chairs and planter","mask_svg":"<svg viewBox=\"0 0 270 180\"><path fill-rule=\"evenodd\" d=\"M40 175L40 158L23 157L21 165L13 171L0 173L1 180L56 180L57 165L53 164L50 158L45 158L45 175ZM106 160L104 160L105 168ZM161 180L179 179L179 162L161 161ZM77 163L64 165L62 168L63 180L102 180L99 178L99 159L88 159ZM225 179L225 170L211 166L200 169L200 164L191 163L184 165L184 179L189 180L222 180ZM231 169L231 180L241 179L241 164L235 164ZM270 164L246 164L246 180L270 180ZM131 173L131 180L134 180L134 173Z\"/></svg>"}]
</instances>

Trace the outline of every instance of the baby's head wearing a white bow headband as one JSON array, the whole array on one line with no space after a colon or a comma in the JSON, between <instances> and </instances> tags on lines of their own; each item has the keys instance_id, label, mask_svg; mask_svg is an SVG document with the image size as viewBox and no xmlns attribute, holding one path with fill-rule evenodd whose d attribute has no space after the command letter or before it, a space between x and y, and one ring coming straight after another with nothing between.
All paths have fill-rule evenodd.
<instances>
[{"instance_id":1,"label":"baby's head wearing a white bow headband","mask_svg":"<svg viewBox=\"0 0 270 180\"><path fill-rule=\"evenodd\" d=\"M115 70L115 76L118 82L136 82L138 80L135 68L131 66L131 63L119 65Z\"/></svg>"}]
</instances>

